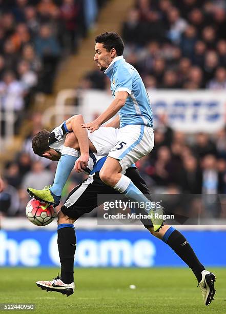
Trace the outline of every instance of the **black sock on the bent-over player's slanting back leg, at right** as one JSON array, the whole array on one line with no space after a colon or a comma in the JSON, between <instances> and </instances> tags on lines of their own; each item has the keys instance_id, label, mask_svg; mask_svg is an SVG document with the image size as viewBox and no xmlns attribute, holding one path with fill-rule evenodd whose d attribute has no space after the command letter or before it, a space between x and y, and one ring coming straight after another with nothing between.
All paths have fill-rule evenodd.
<instances>
[{"instance_id":1,"label":"black sock on the bent-over player's slanting back leg, at right","mask_svg":"<svg viewBox=\"0 0 226 314\"><path fill-rule=\"evenodd\" d=\"M173 229L171 229L171 231L172 230ZM170 233L169 238L166 239L165 242L192 269L198 282L200 282L202 279L201 272L205 268L199 262L199 260L196 256L195 252L193 251L191 245L188 243L188 240L186 238L184 238L184 236L178 230L174 230L172 233Z\"/></svg>"}]
</instances>

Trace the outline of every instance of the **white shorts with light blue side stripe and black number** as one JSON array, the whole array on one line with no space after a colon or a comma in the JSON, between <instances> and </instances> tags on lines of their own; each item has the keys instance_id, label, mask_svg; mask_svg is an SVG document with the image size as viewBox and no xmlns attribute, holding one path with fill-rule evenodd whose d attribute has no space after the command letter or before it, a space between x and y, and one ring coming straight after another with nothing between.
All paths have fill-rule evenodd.
<instances>
[{"instance_id":1,"label":"white shorts with light blue side stripe and black number","mask_svg":"<svg viewBox=\"0 0 226 314\"><path fill-rule=\"evenodd\" d=\"M144 125L128 125L119 130L117 144L108 156L119 161L122 173L148 155L154 147L153 129Z\"/></svg>"}]
</instances>

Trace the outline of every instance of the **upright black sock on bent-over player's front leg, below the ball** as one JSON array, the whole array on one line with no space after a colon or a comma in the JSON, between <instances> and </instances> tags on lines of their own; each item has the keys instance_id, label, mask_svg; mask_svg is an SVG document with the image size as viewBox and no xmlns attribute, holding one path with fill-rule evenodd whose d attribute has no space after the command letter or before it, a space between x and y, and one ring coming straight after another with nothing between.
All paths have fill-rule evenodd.
<instances>
[{"instance_id":1,"label":"upright black sock on bent-over player's front leg, below the ball","mask_svg":"<svg viewBox=\"0 0 226 314\"><path fill-rule=\"evenodd\" d=\"M58 225L58 250L61 264L61 280L70 284L74 281L74 254L76 249L76 236L73 227L63 227ZM61 226L59 228L59 226Z\"/></svg>"}]
</instances>

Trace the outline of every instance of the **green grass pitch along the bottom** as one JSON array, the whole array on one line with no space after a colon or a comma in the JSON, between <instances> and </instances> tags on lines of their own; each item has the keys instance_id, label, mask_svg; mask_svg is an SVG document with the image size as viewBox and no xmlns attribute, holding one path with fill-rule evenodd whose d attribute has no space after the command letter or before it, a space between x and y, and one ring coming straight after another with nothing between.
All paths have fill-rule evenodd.
<instances>
[{"instance_id":1,"label":"green grass pitch along the bottom","mask_svg":"<svg viewBox=\"0 0 226 314\"><path fill-rule=\"evenodd\" d=\"M56 268L0 268L0 303L36 305L35 311L20 313L225 313L226 269L211 270L217 294L210 306L204 306L189 268L78 268L76 290L68 298L35 284L57 276Z\"/></svg>"}]
</instances>

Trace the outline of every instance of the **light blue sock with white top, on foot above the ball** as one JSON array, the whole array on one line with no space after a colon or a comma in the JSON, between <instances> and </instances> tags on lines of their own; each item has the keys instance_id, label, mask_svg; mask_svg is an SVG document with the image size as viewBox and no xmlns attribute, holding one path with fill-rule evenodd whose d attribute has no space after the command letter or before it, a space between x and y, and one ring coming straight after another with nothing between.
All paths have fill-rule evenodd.
<instances>
[{"instance_id":1,"label":"light blue sock with white top, on foot above the ball","mask_svg":"<svg viewBox=\"0 0 226 314\"><path fill-rule=\"evenodd\" d=\"M67 149L65 149L65 148L67 148ZM50 188L51 193L56 195L56 196L61 195L61 192L65 186L65 183L68 180L69 174L71 173L71 170L73 169L74 164L75 164L76 160L78 159L78 156L75 156L75 155L72 156L71 154L64 153L64 152L68 152L68 151L70 153L72 153L72 150L77 152L75 149L73 149L73 148L69 149L69 148L70 147L64 147L63 148L60 160L58 161L58 164L57 164L54 182Z\"/></svg>"}]
</instances>

